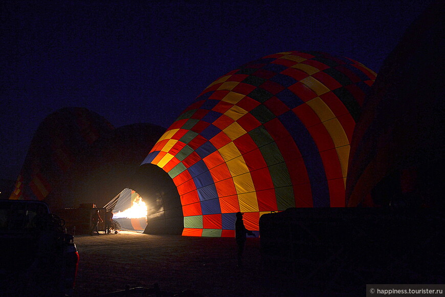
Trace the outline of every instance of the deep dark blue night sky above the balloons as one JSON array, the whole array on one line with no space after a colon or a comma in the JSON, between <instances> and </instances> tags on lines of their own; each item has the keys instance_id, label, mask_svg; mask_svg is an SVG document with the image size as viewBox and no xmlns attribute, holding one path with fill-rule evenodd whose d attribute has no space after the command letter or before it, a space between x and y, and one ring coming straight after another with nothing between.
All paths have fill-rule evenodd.
<instances>
[{"instance_id":1,"label":"deep dark blue night sky above the balloons","mask_svg":"<svg viewBox=\"0 0 445 297\"><path fill-rule=\"evenodd\" d=\"M324 51L378 72L431 3L275 2L2 1L0 178L16 179L63 107L167 128L213 80L268 54Z\"/></svg>"}]
</instances>

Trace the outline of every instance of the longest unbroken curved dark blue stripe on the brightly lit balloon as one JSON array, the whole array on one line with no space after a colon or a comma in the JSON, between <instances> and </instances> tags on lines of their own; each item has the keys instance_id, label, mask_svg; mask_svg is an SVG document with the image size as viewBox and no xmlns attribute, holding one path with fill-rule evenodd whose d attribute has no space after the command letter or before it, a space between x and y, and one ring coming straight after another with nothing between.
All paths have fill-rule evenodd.
<instances>
[{"instance_id":1,"label":"longest unbroken curved dark blue stripe on the brightly lit balloon","mask_svg":"<svg viewBox=\"0 0 445 297\"><path fill-rule=\"evenodd\" d=\"M328 207L330 199L326 173L314 139L294 112L285 112L278 118L294 138L303 156L312 189L314 207Z\"/></svg>"}]
</instances>

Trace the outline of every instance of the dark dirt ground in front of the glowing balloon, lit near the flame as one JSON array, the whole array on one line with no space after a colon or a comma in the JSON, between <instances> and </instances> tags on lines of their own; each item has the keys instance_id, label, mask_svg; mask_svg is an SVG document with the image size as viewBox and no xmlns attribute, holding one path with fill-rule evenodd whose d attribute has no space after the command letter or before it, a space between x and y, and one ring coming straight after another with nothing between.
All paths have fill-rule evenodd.
<instances>
[{"instance_id":1,"label":"dark dirt ground in front of the glowing balloon, lit near the flame","mask_svg":"<svg viewBox=\"0 0 445 297\"><path fill-rule=\"evenodd\" d=\"M156 236L137 232L76 236L80 262L74 296L97 296L129 287L152 287L203 296L319 295L283 286L265 273L259 239L249 238L243 267L233 238Z\"/></svg>"}]
</instances>

